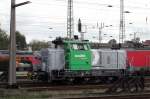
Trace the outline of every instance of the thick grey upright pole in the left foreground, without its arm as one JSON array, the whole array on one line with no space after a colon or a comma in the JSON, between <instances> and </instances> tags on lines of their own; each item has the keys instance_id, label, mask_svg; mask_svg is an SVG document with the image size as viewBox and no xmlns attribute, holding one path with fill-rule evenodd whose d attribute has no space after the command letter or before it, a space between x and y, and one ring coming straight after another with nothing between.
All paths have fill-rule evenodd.
<instances>
[{"instance_id":1,"label":"thick grey upright pole in the left foreground, without its arm","mask_svg":"<svg viewBox=\"0 0 150 99\"><path fill-rule=\"evenodd\" d=\"M10 62L9 62L9 77L8 85L16 84L16 9L15 0L11 0L11 19L10 19Z\"/></svg>"}]
</instances>

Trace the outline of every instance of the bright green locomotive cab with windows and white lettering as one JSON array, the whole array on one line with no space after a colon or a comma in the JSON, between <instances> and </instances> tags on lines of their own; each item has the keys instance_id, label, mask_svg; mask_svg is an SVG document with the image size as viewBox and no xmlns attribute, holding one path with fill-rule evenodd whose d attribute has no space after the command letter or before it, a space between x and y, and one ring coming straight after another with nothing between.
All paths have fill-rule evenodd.
<instances>
[{"instance_id":1,"label":"bright green locomotive cab with windows and white lettering","mask_svg":"<svg viewBox=\"0 0 150 99\"><path fill-rule=\"evenodd\" d=\"M87 41L64 41L66 69L91 70L91 48Z\"/></svg>"}]
</instances>

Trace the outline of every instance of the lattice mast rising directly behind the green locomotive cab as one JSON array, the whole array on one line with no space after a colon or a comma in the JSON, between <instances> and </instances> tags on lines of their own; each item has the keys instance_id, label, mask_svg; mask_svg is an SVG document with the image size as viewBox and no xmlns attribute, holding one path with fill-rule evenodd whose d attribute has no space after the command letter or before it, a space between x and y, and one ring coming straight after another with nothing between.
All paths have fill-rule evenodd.
<instances>
[{"instance_id":1,"label":"lattice mast rising directly behind the green locomotive cab","mask_svg":"<svg viewBox=\"0 0 150 99\"><path fill-rule=\"evenodd\" d=\"M74 35L73 0L68 0L67 37L71 39L73 35Z\"/></svg>"}]
</instances>

